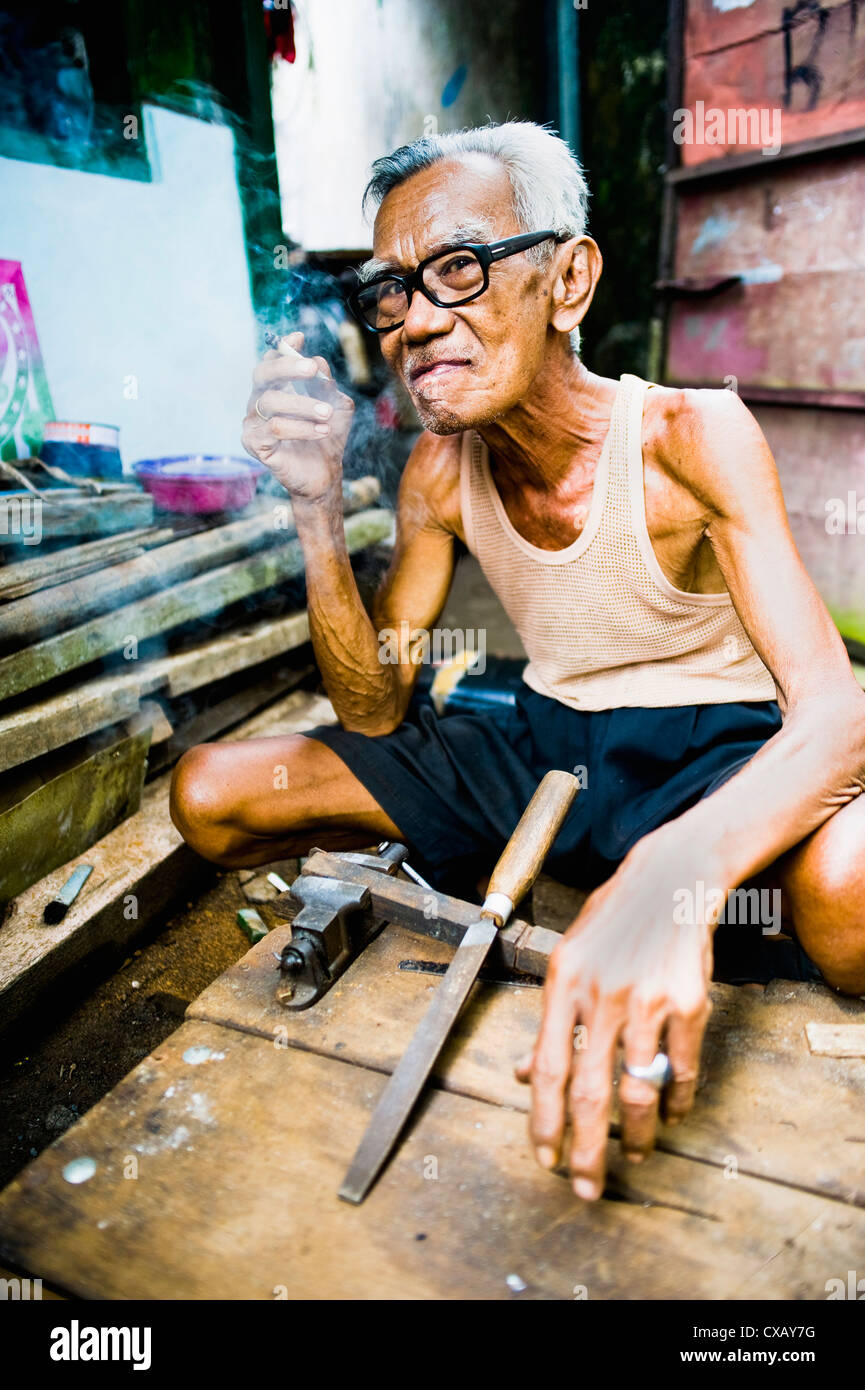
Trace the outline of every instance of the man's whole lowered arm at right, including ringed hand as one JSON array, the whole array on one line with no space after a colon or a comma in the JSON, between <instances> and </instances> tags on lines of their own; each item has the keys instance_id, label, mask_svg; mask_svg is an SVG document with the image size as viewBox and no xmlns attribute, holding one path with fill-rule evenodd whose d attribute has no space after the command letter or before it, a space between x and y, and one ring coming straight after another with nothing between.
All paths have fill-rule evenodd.
<instances>
[{"instance_id":1,"label":"man's whole lowered arm at right, including ringed hand","mask_svg":"<svg viewBox=\"0 0 865 1390\"><path fill-rule=\"evenodd\" d=\"M531 1080L531 1137L544 1168L558 1161L570 1113L567 1162L577 1195L590 1201L604 1190L619 1042L629 1066L668 1054L668 1123L694 1099L718 915L683 920L674 912L681 890L702 881L723 902L865 787L865 695L795 550L755 420L729 392L683 392L655 453L701 503L784 721L719 791L640 840L552 954L534 1055L517 1074ZM580 1052L577 1023L588 1038ZM623 1072L619 1102L622 1145L638 1162L654 1144L659 1097Z\"/></svg>"}]
</instances>

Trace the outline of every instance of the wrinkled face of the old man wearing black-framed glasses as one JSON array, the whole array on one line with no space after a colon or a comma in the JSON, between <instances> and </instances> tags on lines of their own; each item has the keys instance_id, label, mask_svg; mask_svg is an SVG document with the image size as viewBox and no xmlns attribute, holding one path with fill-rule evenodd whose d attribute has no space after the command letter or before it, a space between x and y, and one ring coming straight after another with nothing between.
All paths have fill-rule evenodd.
<instances>
[{"instance_id":1,"label":"wrinkled face of the old man wearing black-framed glasses","mask_svg":"<svg viewBox=\"0 0 865 1390\"><path fill-rule=\"evenodd\" d=\"M491 242L527 231L517 224L498 160L442 160L384 199L374 257L406 274L452 245L455 229L474 225L488 234L464 239ZM522 252L490 267L488 289L470 304L439 309L414 292L405 324L381 334L380 343L427 430L455 434L488 424L523 399L544 360L551 281L552 271Z\"/></svg>"}]
</instances>

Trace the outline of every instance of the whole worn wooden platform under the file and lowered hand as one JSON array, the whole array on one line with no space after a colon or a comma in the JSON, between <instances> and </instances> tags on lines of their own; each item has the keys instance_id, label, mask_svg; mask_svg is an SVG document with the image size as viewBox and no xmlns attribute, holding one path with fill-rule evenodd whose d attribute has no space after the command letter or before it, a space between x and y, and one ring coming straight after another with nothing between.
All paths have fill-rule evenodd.
<instances>
[{"instance_id":1,"label":"whole worn wooden platform under the file and lowered hand","mask_svg":"<svg viewBox=\"0 0 865 1390\"><path fill-rule=\"evenodd\" d=\"M865 1261L865 1062L814 1056L804 1036L855 1022L857 1002L713 987L694 1119L640 1169L612 1141L606 1197L584 1208L534 1163L512 1077L540 991L481 984L355 1208L337 1188L437 983L399 962L448 952L389 927L293 1015L271 1002L286 931L10 1184L0 1258L89 1298L239 1300L808 1300ZM96 1162L81 1184L75 1158Z\"/></svg>"}]
</instances>

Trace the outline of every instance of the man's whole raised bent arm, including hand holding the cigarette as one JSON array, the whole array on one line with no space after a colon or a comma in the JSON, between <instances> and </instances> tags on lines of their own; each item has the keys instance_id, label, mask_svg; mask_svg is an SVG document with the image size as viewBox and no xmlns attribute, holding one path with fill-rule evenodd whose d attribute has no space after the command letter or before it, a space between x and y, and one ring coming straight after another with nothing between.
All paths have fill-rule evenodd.
<instances>
[{"instance_id":1,"label":"man's whole raised bent arm, including hand holding the cigarette","mask_svg":"<svg viewBox=\"0 0 865 1390\"><path fill-rule=\"evenodd\" d=\"M452 438L421 435L412 450L399 488L394 559L370 621L342 520L342 455L352 402L327 379L316 381L318 399L298 392L298 381L316 370L330 378L330 368L321 357L300 354L299 334L281 348L256 368L243 445L291 495L306 562L313 648L337 716L345 728L388 734L405 716L419 667L406 642L398 644L399 660L382 662L388 648L380 632L402 634L403 623L409 632L428 627L444 607L453 575L453 535L460 532L459 446Z\"/></svg>"}]
</instances>

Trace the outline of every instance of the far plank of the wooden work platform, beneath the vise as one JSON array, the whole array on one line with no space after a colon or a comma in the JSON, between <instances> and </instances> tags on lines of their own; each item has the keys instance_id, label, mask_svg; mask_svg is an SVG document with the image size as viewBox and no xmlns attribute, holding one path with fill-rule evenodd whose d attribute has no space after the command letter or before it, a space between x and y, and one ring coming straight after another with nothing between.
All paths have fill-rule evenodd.
<instances>
[{"instance_id":1,"label":"far plank of the wooden work platform, beneath the vise","mask_svg":"<svg viewBox=\"0 0 865 1390\"><path fill-rule=\"evenodd\" d=\"M438 983L399 962L449 960L451 948L388 927L324 999L292 1013L274 1001L274 951L289 937L275 927L188 1017L392 1072ZM865 1006L787 981L765 992L713 984L712 999L698 1102L686 1123L662 1130L663 1150L865 1205L865 1061L812 1056L805 1038L807 1022L855 1022ZM540 990L480 984L437 1062L438 1084L527 1109L513 1066L531 1051L540 1017Z\"/></svg>"}]
</instances>

